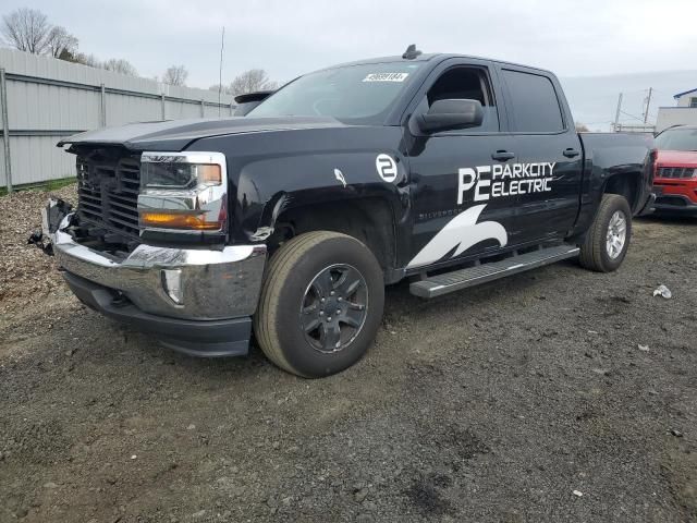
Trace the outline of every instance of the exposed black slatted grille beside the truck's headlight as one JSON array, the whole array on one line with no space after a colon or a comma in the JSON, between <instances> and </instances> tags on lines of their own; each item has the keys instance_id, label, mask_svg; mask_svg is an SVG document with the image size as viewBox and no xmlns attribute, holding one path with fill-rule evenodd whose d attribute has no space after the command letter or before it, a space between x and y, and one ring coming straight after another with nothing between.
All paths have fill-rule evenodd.
<instances>
[{"instance_id":1,"label":"exposed black slatted grille beside the truck's headlight","mask_svg":"<svg viewBox=\"0 0 697 523\"><path fill-rule=\"evenodd\" d=\"M140 161L98 151L77 157L77 214L81 221L137 239Z\"/></svg>"}]
</instances>

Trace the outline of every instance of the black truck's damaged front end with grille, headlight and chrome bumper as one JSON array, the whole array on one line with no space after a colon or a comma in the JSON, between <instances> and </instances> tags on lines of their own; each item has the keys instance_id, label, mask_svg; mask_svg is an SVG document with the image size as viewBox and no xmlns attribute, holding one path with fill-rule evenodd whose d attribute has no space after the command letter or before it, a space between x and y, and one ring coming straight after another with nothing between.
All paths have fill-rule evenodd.
<instances>
[{"instance_id":1,"label":"black truck's damaged front end with grille, headlight and chrome bumper","mask_svg":"<svg viewBox=\"0 0 697 523\"><path fill-rule=\"evenodd\" d=\"M50 199L29 238L88 307L192 355L246 354L264 244L229 245L219 153L81 149L77 208Z\"/></svg>"}]
</instances>

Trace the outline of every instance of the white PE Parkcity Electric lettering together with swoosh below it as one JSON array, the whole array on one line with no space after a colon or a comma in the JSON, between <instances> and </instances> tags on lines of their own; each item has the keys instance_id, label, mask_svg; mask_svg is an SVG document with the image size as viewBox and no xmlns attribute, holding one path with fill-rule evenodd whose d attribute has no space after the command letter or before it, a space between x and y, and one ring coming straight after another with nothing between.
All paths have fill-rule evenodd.
<instances>
[{"instance_id":1,"label":"white PE Parkcity Electric lettering together with swoosh below it","mask_svg":"<svg viewBox=\"0 0 697 523\"><path fill-rule=\"evenodd\" d=\"M465 202L469 191L474 191L474 202L490 198L516 196L551 191L555 162L536 163L497 163L457 170L457 205ZM469 247L485 240L496 240L503 247L509 235L497 221L477 223L479 215L487 204L475 205L458 214L443 227L414 259L408 268L433 264L449 253L450 257L460 256Z\"/></svg>"}]
</instances>

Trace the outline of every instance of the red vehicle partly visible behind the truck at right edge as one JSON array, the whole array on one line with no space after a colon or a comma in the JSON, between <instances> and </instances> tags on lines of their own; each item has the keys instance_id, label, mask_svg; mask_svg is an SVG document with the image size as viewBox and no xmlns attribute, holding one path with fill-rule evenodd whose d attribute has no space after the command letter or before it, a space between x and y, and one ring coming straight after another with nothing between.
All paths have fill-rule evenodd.
<instances>
[{"instance_id":1,"label":"red vehicle partly visible behind the truck at right edge","mask_svg":"<svg viewBox=\"0 0 697 523\"><path fill-rule=\"evenodd\" d=\"M667 129L656 148L656 212L697 216L697 125Z\"/></svg>"}]
</instances>

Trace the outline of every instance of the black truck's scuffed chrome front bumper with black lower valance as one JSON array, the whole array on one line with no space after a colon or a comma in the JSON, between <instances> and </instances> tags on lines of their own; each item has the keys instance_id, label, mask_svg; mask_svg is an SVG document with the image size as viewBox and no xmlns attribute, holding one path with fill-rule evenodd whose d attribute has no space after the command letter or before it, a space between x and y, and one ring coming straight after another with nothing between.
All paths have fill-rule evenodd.
<instances>
[{"instance_id":1,"label":"black truck's scuffed chrome front bumper with black lower valance","mask_svg":"<svg viewBox=\"0 0 697 523\"><path fill-rule=\"evenodd\" d=\"M72 218L47 232L68 284L86 305L189 354L247 352L265 245L213 251L140 244L115 259L77 243L65 230Z\"/></svg>"}]
</instances>

